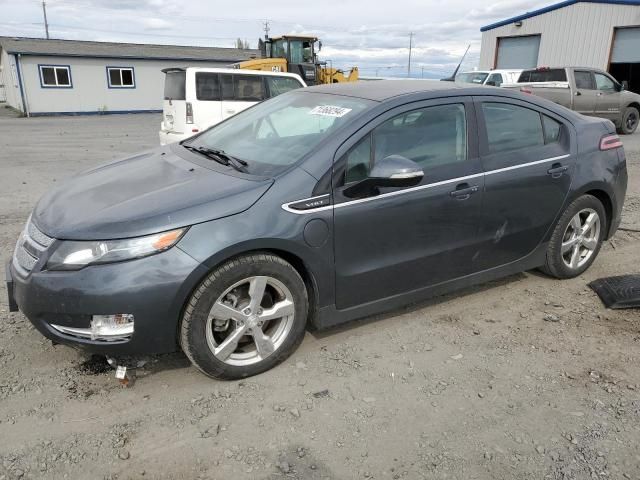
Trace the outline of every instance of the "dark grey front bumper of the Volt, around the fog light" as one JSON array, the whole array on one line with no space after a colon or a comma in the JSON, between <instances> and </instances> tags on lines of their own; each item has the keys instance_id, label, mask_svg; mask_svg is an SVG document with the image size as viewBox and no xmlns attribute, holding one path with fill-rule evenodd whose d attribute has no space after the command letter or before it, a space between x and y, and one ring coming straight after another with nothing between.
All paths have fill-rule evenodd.
<instances>
[{"instance_id":1,"label":"dark grey front bumper of the Volt, around the fog light","mask_svg":"<svg viewBox=\"0 0 640 480\"><path fill-rule=\"evenodd\" d=\"M91 353L140 355L178 347L183 306L207 270L173 247L127 262L78 271L33 271L21 276L6 266L9 305L18 307L45 337ZM132 314L134 332L125 340L101 341L66 334L57 327L87 329L93 315Z\"/></svg>"}]
</instances>

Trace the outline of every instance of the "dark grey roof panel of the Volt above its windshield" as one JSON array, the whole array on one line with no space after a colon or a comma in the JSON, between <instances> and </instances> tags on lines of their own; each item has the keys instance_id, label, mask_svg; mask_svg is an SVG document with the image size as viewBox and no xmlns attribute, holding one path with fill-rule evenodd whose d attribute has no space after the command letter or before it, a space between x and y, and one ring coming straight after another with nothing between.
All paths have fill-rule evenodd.
<instances>
[{"instance_id":1,"label":"dark grey roof panel of the Volt above its windshield","mask_svg":"<svg viewBox=\"0 0 640 480\"><path fill-rule=\"evenodd\" d=\"M459 92L464 88L454 82L441 82L438 80L380 80L377 82L344 82L331 85L316 85L304 89L306 93L328 93L332 95L344 95L347 97L364 98L382 102L401 95L410 95L421 92Z\"/></svg>"}]
</instances>

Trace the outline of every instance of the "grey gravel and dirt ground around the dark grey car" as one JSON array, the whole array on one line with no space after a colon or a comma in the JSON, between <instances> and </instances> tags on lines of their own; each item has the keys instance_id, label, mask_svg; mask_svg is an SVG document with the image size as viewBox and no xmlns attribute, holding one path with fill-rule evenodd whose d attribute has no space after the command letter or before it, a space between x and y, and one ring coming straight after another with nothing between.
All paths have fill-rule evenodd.
<instances>
[{"instance_id":1,"label":"grey gravel and dirt ground around the dark grey car","mask_svg":"<svg viewBox=\"0 0 640 480\"><path fill-rule=\"evenodd\" d=\"M0 256L46 189L156 145L159 122L0 118ZM640 229L640 133L624 143ZM528 272L307 334L244 381L161 356L132 388L9 313L2 284L0 480L638 479L640 314L586 285L639 260L619 231L574 280Z\"/></svg>"}]
</instances>

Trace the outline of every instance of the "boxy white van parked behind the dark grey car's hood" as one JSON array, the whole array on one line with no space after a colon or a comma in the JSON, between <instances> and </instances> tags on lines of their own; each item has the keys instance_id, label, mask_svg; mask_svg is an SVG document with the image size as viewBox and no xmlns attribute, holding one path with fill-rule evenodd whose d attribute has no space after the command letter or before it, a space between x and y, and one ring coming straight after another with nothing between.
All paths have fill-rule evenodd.
<instances>
[{"instance_id":1,"label":"boxy white van parked behind the dark grey car's hood","mask_svg":"<svg viewBox=\"0 0 640 480\"><path fill-rule=\"evenodd\" d=\"M200 67L163 72L161 145L189 138L267 98L306 87L293 73Z\"/></svg>"}]
</instances>

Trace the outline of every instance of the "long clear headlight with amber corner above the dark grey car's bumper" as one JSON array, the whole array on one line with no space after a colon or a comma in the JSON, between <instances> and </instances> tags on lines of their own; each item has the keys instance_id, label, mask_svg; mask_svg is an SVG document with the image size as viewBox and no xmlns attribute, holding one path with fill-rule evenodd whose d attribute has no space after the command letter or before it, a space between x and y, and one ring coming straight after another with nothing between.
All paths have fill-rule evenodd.
<instances>
[{"instance_id":1,"label":"long clear headlight with amber corner above the dark grey car's bumper","mask_svg":"<svg viewBox=\"0 0 640 480\"><path fill-rule=\"evenodd\" d=\"M49 261L48 270L79 270L87 265L122 262L146 257L173 247L186 228L122 240L63 240Z\"/></svg>"}]
</instances>

